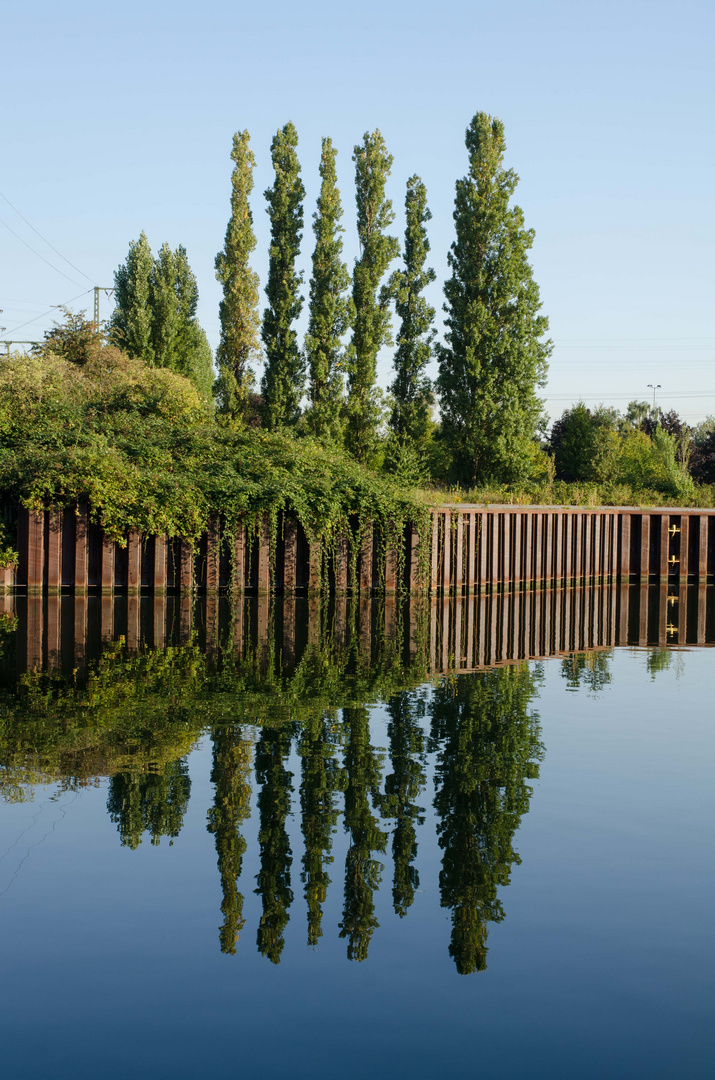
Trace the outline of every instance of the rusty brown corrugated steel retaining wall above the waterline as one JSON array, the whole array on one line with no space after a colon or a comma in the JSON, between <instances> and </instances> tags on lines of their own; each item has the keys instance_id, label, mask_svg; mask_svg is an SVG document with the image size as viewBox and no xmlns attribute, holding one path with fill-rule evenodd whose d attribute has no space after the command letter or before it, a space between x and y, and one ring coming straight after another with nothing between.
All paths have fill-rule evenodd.
<instances>
[{"instance_id":1,"label":"rusty brown corrugated steel retaining wall above the waterline","mask_svg":"<svg viewBox=\"0 0 715 1080\"><path fill-rule=\"evenodd\" d=\"M0 591L63 590L161 594L358 590L463 595L607 583L705 583L715 576L715 511L682 508L434 508L428 551L407 528L401 546L364 526L352 546L310 543L289 517L271 546L268 518L257 529L221 534L218 518L195 549L179 539L131 532L107 538L86 507L17 514L16 567L0 568ZM382 552L382 563L378 561Z\"/></svg>"}]
</instances>

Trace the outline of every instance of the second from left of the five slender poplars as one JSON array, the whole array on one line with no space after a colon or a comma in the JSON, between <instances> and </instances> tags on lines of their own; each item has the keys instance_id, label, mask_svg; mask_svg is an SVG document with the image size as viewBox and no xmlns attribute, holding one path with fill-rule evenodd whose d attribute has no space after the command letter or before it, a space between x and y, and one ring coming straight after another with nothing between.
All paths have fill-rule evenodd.
<instances>
[{"instance_id":1,"label":"second from left of the five slender poplars","mask_svg":"<svg viewBox=\"0 0 715 1080\"><path fill-rule=\"evenodd\" d=\"M302 274L295 261L302 239L302 200L306 189L300 179L296 147L298 133L292 123L279 130L271 143L275 171L273 187L265 192L271 220L271 246L264 312L262 339L266 370L261 380L266 427L295 423L300 415L303 387L303 360L293 323L302 309L299 294Z\"/></svg>"}]
</instances>

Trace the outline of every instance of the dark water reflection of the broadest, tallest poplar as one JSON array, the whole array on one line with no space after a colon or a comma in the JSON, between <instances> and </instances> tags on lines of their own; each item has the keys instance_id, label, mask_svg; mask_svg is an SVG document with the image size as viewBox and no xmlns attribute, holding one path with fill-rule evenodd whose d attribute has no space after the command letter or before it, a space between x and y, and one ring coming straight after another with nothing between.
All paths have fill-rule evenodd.
<instances>
[{"instance_id":1,"label":"dark water reflection of the broadest, tallest poplar","mask_svg":"<svg viewBox=\"0 0 715 1080\"><path fill-rule=\"evenodd\" d=\"M451 908L449 955L462 975L486 969L487 923L504 917L497 888L520 862L513 838L542 756L538 716L528 711L537 671L495 669L444 680L434 694L440 892Z\"/></svg>"}]
</instances>

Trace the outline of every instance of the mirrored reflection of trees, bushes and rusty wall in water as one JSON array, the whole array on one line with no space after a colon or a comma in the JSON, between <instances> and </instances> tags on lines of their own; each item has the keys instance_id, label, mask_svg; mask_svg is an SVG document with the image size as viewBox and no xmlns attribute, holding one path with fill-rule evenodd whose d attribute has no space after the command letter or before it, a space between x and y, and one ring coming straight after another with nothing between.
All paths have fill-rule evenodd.
<instances>
[{"instance_id":1,"label":"mirrored reflection of trees, bushes and rusty wall in water","mask_svg":"<svg viewBox=\"0 0 715 1080\"><path fill-rule=\"evenodd\" d=\"M684 635L711 625L710 591L701 594L678 600ZM79 788L106 777L120 842L135 849L146 835L171 842L191 793L188 754L207 733L221 951L237 951L245 923L241 877L255 799L258 951L279 963L284 949L296 813L308 944L324 933L329 891L341 889L337 930L349 959L362 961L379 926L378 891L389 888L387 861L397 916L420 888L432 777L449 953L460 973L482 971L543 754L534 711L540 667L522 658L561 653L568 685L598 691L622 630L637 640L648 626L656 639L666 630L674 605L665 596L661 610L661 599L647 589L396 605L13 599L0 626L2 796L31 798L36 784ZM569 648L578 651L565 656ZM664 646L653 653L652 673L672 656ZM368 705L377 701L386 703L385 752L370 731ZM347 851L338 869L340 818Z\"/></svg>"}]
</instances>

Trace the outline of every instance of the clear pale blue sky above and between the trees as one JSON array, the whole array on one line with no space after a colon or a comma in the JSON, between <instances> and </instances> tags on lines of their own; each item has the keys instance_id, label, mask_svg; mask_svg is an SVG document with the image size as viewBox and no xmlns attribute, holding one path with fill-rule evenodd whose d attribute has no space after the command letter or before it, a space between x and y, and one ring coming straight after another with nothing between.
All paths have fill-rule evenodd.
<instances>
[{"instance_id":1,"label":"clear pale blue sky above and between the trees","mask_svg":"<svg viewBox=\"0 0 715 1080\"><path fill-rule=\"evenodd\" d=\"M378 127L401 239L405 183L427 185L441 325L464 131L485 111L504 123L536 233L552 420L579 400L650 400L649 383L690 423L715 414L712 2L3 0L0 13L0 340L41 338L53 305L91 315L87 289L113 284L144 229L154 251L187 248L215 347L231 138L247 130L256 156L262 308L262 192L288 120L307 192L305 295L321 138L338 149L352 266L351 156ZM103 294L102 316L111 308ZM388 352L378 381L390 379Z\"/></svg>"}]
</instances>

